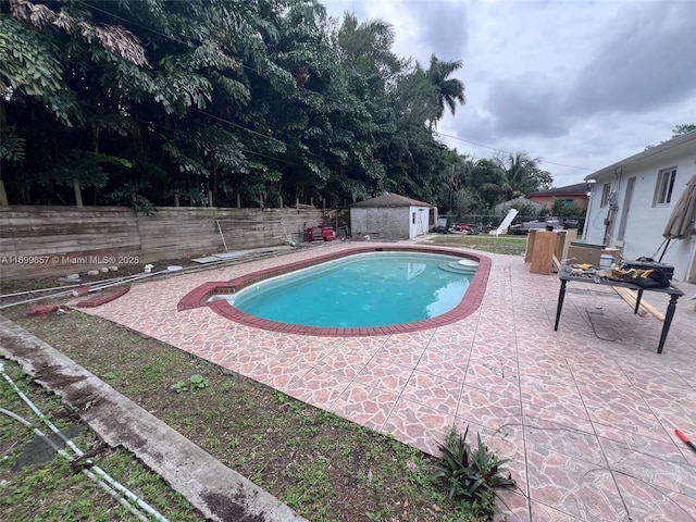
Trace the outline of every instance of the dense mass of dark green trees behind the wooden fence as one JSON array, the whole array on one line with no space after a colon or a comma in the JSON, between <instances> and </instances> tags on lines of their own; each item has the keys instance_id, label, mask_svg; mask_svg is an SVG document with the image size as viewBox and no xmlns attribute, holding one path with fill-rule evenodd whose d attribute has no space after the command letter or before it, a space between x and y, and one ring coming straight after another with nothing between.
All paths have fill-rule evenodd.
<instances>
[{"instance_id":1,"label":"dense mass of dark green trees behind the wooden fence","mask_svg":"<svg viewBox=\"0 0 696 522\"><path fill-rule=\"evenodd\" d=\"M440 144L463 64L425 69L394 37L315 0L2 2L0 204L337 206L389 190L449 211L550 184L526 154Z\"/></svg>"}]
</instances>

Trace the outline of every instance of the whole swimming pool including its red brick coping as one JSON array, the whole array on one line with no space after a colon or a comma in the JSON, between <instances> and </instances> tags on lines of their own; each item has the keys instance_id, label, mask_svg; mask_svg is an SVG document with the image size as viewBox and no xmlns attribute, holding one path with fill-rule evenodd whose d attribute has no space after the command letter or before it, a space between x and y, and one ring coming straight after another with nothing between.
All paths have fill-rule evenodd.
<instances>
[{"instance_id":1,"label":"whole swimming pool including its red brick coping","mask_svg":"<svg viewBox=\"0 0 696 522\"><path fill-rule=\"evenodd\" d=\"M385 271L386 264L384 263L390 263L393 259L397 259L394 258L394 253L421 257L406 262L401 261L400 266L399 262L395 262L393 269ZM347 281L335 281L335 278L332 281L331 274L336 266L341 265L353 265L351 270L365 270L363 261L360 260L361 257L365 257L364 254L375 257L376 262L383 263L384 266L373 274L373 277L377 277L377 279L369 279L371 282L364 284L371 294L366 297L365 295L359 297L360 293L355 291L358 288L355 274L344 273L341 278ZM427 263L424 262L426 259ZM323 264L326 262L330 263ZM476 263L478 269L472 276L470 270L464 265ZM443 270L443 266L446 270ZM463 270L461 270L462 268ZM361 246L252 272L228 282L203 284L187 294L178 302L177 309L183 311L209 307L220 315L247 326L306 335L356 336L415 332L450 324L464 319L476 310L485 291L489 270L490 260L488 258L458 249L398 245L388 247ZM428 273L431 275L427 275ZM266 279L272 277L276 277L272 285L279 285L275 290L272 289L272 286L265 287L269 284ZM310 294L312 297L300 300L294 295L295 297L289 300L278 302L276 308L281 309L281 315L268 315L254 309L253 303L251 308L245 310L245 301L247 299L249 302L253 301L249 298L250 296L273 295L282 297L285 294L291 294L289 290L294 287L311 284L313 279L324 279L323 286L311 290L313 291ZM425 284L427 279L432 279L428 285ZM403 294L403 288L396 289L396 286L391 286L393 283L399 284L408 281L414 282L411 285L412 289L409 289L409 293L412 291L412 294ZM437 287L436 284L440 286ZM396 296L396 310L390 311L386 316L387 306L383 298L394 297L398 293L402 293L402 295ZM415 304L414 296L418 294L426 295L431 300L428 302L421 300ZM336 301L341 300L339 297L345 299L347 306L352 310L335 314L339 318L338 321L325 322L324 310L334 308ZM269 299L270 302L274 300ZM310 308L308 301L318 306ZM413 306L411 306L412 303ZM413 310L410 308L415 309L418 313L413 314ZM313 319L308 321L307 319L288 316L288 310L301 309L309 309L309 315ZM320 315L322 318L319 318ZM356 320L362 322L356 322Z\"/></svg>"}]
</instances>

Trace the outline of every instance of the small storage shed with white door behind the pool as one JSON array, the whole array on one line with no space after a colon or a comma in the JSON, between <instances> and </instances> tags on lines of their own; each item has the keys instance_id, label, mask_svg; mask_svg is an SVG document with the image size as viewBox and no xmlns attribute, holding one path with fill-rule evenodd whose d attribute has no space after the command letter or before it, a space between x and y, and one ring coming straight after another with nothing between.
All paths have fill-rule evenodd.
<instances>
[{"instance_id":1,"label":"small storage shed with white door behind the pool","mask_svg":"<svg viewBox=\"0 0 696 522\"><path fill-rule=\"evenodd\" d=\"M350 206L353 237L411 239L427 234L437 223L437 208L423 201L385 192Z\"/></svg>"}]
</instances>

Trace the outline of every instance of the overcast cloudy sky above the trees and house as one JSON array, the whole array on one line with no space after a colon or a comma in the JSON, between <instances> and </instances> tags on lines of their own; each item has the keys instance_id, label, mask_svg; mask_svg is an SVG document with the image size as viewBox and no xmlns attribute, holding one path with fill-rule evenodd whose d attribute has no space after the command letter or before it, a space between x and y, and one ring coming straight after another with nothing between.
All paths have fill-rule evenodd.
<instances>
[{"instance_id":1,"label":"overcast cloudy sky above the trees and house","mask_svg":"<svg viewBox=\"0 0 696 522\"><path fill-rule=\"evenodd\" d=\"M467 103L443 142L525 151L557 187L696 123L696 0L320 1L391 24L400 58L461 60Z\"/></svg>"}]
</instances>

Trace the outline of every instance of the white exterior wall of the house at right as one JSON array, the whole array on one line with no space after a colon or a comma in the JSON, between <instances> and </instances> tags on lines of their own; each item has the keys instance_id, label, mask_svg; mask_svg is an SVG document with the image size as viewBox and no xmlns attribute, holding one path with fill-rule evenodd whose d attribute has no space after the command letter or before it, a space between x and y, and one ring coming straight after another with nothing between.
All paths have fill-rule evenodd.
<instances>
[{"instance_id":1,"label":"white exterior wall of the house at right","mask_svg":"<svg viewBox=\"0 0 696 522\"><path fill-rule=\"evenodd\" d=\"M602 188L611 183L611 192L617 195L618 209L610 225L607 247L621 248L624 259L636 259L642 256L659 258L664 238L662 232L667 221L683 192L686 182L696 173L696 151L682 150L661 154L661 159L646 158L639 163L623 167L620 174L602 174L596 176L592 185L592 196L587 220L585 222L585 243L592 245L605 244L605 220L609 216L609 204L600 208ZM654 206L652 200L659 171L676 166L674 187L669 204ZM635 177L633 198L626 215L623 240L617 238L621 225L622 211L625 204L627 181ZM674 277L678 281L688 281L693 264L696 262L696 238L689 240L672 240L662 262L674 265Z\"/></svg>"}]
</instances>

